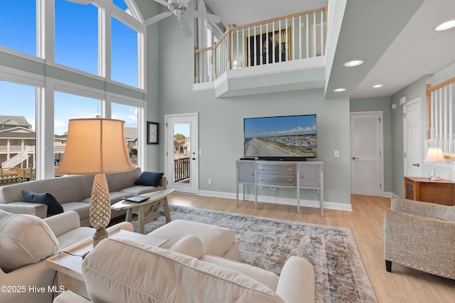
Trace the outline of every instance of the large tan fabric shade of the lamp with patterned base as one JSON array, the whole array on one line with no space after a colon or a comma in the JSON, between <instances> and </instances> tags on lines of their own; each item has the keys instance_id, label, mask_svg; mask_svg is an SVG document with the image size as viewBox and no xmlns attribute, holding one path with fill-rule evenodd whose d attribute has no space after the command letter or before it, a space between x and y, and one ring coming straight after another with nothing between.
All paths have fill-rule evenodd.
<instances>
[{"instance_id":1,"label":"large tan fabric shade of the lamp with patterned base","mask_svg":"<svg viewBox=\"0 0 455 303\"><path fill-rule=\"evenodd\" d=\"M64 175L94 175L134 170L129 158L124 121L71 119L60 166Z\"/></svg>"}]
</instances>

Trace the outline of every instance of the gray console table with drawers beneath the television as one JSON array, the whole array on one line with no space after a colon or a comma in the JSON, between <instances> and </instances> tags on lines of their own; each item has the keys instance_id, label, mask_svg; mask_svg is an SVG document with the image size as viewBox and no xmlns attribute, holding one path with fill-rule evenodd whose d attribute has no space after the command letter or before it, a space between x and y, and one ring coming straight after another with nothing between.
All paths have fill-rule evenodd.
<instances>
[{"instance_id":1,"label":"gray console table with drawers beneath the television","mask_svg":"<svg viewBox=\"0 0 455 303\"><path fill-rule=\"evenodd\" d=\"M300 189L317 189L320 192L321 216L323 216L323 162L322 161L235 161L235 194L239 203L239 184L243 185L245 200L246 185L255 187L257 208L257 187L295 188L297 193L297 214L300 214Z\"/></svg>"}]
</instances>

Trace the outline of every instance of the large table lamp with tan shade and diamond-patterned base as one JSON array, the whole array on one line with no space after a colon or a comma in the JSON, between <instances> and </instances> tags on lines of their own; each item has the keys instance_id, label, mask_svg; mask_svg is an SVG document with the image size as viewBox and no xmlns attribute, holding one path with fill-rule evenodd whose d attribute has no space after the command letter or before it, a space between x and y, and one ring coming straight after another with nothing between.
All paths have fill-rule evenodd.
<instances>
[{"instance_id":1,"label":"large table lamp with tan shade and diamond-patterned base","mask_svg":"<svg viewBox=\"0 0 455 303\"><path fill-rule=\"evenodd\" d=\"M134 170L125 139L124 121L71 119L62 161L56 172L64 175L95 175L90 203L90 224L96 228L93 247L107 238L111 202L106 175Z\"/></svg>"}]
</instances>

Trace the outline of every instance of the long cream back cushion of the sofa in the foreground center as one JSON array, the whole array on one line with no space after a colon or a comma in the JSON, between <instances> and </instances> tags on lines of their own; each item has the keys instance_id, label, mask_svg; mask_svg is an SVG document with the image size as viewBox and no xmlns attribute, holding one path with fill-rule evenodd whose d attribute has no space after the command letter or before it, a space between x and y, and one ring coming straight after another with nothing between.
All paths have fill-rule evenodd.
<instances>
[{"instance_id":1,"label":"long cream back cushion of the sofa in the foreground center","mask_svg":"<svg viewBox=\"0 0 455 303\"><path fill-rule=\"evenodd\" d=\"M101 241L82 262L82 275L94 301L284 302L236 270L125 239Z\"/></svg>"}]
</instances>

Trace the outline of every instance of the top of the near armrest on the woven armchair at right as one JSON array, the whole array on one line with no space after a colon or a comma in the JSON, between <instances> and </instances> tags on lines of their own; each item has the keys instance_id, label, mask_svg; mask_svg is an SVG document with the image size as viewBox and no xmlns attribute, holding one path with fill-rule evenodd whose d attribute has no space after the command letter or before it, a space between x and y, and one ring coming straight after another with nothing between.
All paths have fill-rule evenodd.
<instances>
[{"instance_id":1,"label":"top of the near armrest on the woven armchair at right","mask_svg":"<svg viewBox=\"0 0 455 303\"><path fill-rule=\"evenodd\" d=\"M432 216L446 221L455 221L455 206L446 206L410 199L392 198L390 209L420 216Z\"/></svg>"}]
</instances>

